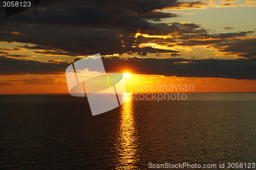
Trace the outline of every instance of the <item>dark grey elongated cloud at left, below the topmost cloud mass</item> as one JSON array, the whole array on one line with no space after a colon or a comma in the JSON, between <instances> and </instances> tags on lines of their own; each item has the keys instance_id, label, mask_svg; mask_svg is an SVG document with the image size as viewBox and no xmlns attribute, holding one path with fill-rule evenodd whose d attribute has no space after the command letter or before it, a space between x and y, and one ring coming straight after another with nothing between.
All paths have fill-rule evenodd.
<instances>
[{"instance_id":1,"label":"dark grey elongated cloud at left, below the topmost cloud mass","mask_svg":"<svg viewBox=\"0 0 256 170\"><path fill-rule=\"evenodd\" d=\"M55 49L61 49L62 51L71 52L76 55L92 55L99 51L103 55L122 54L132 50L131 46L122 47L121 40L129 41L130 38L125 35L120 37L119 35L122 32L118 30L60 26L53 28L48 26L24 26L18 27L17 30L18 32L24 32L20 34L0 32L0 40L32 43L40 46L50 45ZM130 45L132 44L132 42L129 43Z\"/></svg>"}]
</instances>

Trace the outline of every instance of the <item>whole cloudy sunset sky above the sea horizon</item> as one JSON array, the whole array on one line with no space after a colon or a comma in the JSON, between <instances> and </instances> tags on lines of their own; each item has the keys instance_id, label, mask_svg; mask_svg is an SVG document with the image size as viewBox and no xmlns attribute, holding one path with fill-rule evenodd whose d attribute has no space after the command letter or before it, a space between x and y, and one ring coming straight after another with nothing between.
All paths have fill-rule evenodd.
<instances>
[{"instance_id":1,"label":"whole cloudy sunset sky above the sea horizon","mask_svg":"<svg viewBox=\"0 0 256 170\"><path fill-rule=\"evenodd\" d=\"M255 16L253 0L45 0L9 17L1 7L0 93L68 93L68 65L97 53L107 72L131 74L128 92L256 92Z\"/></svg>"}]
</instances>

